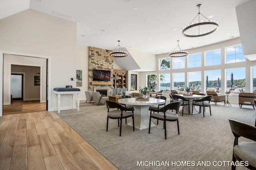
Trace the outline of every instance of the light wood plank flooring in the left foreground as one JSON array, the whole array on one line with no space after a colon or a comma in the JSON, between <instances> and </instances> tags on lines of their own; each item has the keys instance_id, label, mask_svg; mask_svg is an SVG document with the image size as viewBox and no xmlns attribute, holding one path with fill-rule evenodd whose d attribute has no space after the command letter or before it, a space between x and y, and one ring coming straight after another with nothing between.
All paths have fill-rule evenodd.
<instances>
[{"instance_id":1,"label":"light wood plank flooring in the left foreground","mask_svg":"<svg viewBox=\"0 0 256 170\"><path fill-rule=\"evenodd\" d=\"M0 117L0 170L117 169L54 112Z\"/></svg>"}]
</instances>

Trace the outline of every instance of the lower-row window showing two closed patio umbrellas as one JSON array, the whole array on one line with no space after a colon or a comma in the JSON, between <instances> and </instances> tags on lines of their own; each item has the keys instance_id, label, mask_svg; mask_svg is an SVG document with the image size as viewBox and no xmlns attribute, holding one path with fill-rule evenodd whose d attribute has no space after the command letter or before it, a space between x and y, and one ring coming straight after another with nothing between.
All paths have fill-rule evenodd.
<instances>
[{"instance_id":1,"label":"lower-row window showing two closed patio umbrellas","mask_svg":"<svg viewBox=\"0 0 256 170\"><path fill-rule=\"evenodd\" d=\"M220 77L221 71L220 70L205 71L205 75L208 76L208 87L206 88L206 90L209 90L212 88L217 88L219 90L221 89L221 77ZM219 84L218 84L218 79L219 79ZM223 89L224 88L225 87L223 85Z\"/></svg>"}]
</instances>

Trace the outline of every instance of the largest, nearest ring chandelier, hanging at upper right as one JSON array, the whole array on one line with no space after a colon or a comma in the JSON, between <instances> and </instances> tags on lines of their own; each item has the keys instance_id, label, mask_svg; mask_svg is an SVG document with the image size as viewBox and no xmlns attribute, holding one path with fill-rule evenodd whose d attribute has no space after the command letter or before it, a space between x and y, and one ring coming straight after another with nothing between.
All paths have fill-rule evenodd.
<instances>
[{"instance_id":1,"label":"largest, nearest ring chandelier, hanging at upper right","mask_svg":"<svg viewBox=\"0 0 256 170\"><path fill-rule=\"evenodd\" d=\"M212 34L215 32L219 26L218 22L213 22L212 20L208 20L203 14L200 13L200 6L201 4L198 4L198 20L195 21L195 18L188 24L188 26L185 26L182 30L182 35L185 37L202 37L206 36L208 34ZM200 15L203 16L203 19L206 19L206 22L203 22L201 20L200 22ZM195 24L194 24L195 23Z\"/></svg>"}]
</instances>

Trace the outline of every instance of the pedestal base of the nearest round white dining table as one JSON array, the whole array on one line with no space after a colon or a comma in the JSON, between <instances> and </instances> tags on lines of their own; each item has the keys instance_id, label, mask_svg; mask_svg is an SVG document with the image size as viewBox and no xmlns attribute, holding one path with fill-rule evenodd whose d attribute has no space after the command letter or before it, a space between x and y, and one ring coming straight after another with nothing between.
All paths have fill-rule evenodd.
<instances>
[{"instance_id":1,"label":"pedestal base of the nearest round white dining table","mask_svg":"<svg viewBox=\"0 0 256 170\"><path fill-rule=\"evenodd\" d=\"M149 127L149 117L148 117L148 109L149 105L133 105L134 107L134 127L142 130ZM132 121L130 121L127 125L132 126ZM154 123L151 122L150 127L154 127Z\"/></svg>"}]
</instances>

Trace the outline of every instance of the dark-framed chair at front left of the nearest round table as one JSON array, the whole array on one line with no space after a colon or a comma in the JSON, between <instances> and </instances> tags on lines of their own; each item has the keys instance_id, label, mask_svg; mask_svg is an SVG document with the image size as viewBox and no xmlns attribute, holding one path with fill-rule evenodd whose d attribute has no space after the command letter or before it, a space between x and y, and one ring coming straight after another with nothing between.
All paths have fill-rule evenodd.
<instances>
[{"instance_id":1,"label":"dark-framed chair at front left of the nearest round table","mask_svg":"<svg viewBox=\"0 0 256 170\"><path fill-rule=\"evenodd\" d=\"M119 136L121 136L122 131L122 119L126 119L128 117L132 117L132 127L134 131L134 112L133 108L125 108L119 103L116 103L114 101L106 101L106 106L108 108L108 116L107 116L107 129L108 131L108 119L118 119L118 127L119 127L119 120L120 120L120 133ZM110 108L117 108L117 110L111 110Z\"/></svg>"}]
</instances>

